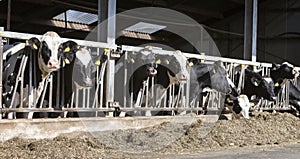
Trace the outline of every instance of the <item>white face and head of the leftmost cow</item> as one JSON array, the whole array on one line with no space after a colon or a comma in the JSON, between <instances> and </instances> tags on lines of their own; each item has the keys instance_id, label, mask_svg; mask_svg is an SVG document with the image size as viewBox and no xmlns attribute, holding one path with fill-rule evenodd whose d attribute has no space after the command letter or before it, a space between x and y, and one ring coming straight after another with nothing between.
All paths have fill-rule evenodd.
<instances>
[{"instance_id":1,"label":"white face and head of the leftmost cow","mask_svg":"<svg viewBox=\"0 0 300 159\"><path fill-rule=\"evenodd\" d=\"M57 71L60 68L58 48L61 43L59 35L55 32L45 33L39 47L39 67L44 73Z\"/></svg>"}]
</instances>

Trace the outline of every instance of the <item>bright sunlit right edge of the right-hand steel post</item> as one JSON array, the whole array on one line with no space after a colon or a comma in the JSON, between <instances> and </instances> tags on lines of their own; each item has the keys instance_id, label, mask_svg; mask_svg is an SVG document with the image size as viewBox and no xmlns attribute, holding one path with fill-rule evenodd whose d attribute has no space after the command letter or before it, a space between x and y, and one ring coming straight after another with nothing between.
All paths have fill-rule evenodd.
<instances>
[{"instance_id":1,"label":"bright sunlit right edge of the right-hand steel post","mask_svg":"<svg viewBox=\"0 0 300 159\"><path fill-rule=\"evenodd\" d=\"M253 19L252 19L252 62L256 62L257 45L257 0L253 0Z\"/></svg>"}]
</instances>

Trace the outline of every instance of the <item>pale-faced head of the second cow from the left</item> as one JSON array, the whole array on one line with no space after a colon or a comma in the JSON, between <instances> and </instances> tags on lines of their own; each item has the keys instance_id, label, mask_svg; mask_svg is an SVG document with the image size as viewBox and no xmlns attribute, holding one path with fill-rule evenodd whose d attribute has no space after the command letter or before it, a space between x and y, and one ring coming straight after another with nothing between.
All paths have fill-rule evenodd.
<instances>
[{"instance_id":1,"label":"pale-faced head of the second cow from the left","mask_svg":"<svg viewBox=\"0 0 300 159\"><path fill-rule=\"evenodd\" d=\"M81 48L76 52L73 68L73 80L76 88L92 87L96 65L92 60L90 51Z\"/></svg>"}]
</instances>

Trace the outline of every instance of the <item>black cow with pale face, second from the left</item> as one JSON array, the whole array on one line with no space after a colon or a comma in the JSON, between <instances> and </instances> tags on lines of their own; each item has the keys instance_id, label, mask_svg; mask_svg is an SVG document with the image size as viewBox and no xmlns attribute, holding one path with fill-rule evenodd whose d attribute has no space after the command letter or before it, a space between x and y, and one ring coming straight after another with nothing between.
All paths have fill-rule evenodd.
<instances>
[{"instance_id":1,"label":"black cow with pale face, second from the left","mask_svg":"<svg viewBox=\"0 0 300 159\"><path fill-rule=\"evenodd\" d=\"M81 90L94 86L96 65L90 52L86 48L80 48L74 41L62 43L59 47L59 56L63 67L59 71L53 72L53 94L51 100L52 107L61 110L61 108L71 104L72 94L76 89ZM45 99L49 102L49 94L46 94ZM46 104L49 104L48 102ZM80 105L80 103L77 104ZM60 113L49 114L49 117L60 115Z\"/></svg>"}]
</instances>

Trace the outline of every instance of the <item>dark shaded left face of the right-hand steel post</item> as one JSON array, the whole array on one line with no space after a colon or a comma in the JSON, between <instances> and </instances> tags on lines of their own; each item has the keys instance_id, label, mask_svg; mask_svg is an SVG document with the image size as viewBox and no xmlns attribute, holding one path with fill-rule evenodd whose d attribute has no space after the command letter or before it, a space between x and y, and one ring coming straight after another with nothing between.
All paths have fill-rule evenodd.
<instances>
[{"instance_id":1,"label":"dark shaded left face of the right-hand steel post","mask_svg":"<svg viewBox=\"0 0 300 159\"><path fill-rule=\"evenodd\" d=\"M253 0L245 0L244 60L251 60Z\"/></svg>"}]
</instances>

